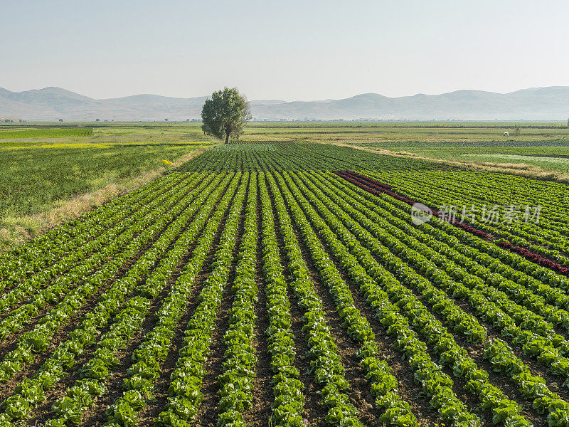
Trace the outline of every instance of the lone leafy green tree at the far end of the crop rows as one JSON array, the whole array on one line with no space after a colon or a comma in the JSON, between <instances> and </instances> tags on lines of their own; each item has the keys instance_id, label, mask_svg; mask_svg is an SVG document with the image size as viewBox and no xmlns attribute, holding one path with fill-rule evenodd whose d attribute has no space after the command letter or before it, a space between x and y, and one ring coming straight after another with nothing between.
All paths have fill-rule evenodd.
<instances>
[{"instance_id":1,"label":"lone leafy green tree at the far end of the crop rows","mask_svg":"<svg viewBox=\"0 0 569 427\"><path fill-rule=\"evenodd\" d=\"M223 88L211 94L201 109L201 129L207 135L216 138L239 137L243 125L251 120L249 102L241 95L237 88Z\"/></svg>"}]
</instances>

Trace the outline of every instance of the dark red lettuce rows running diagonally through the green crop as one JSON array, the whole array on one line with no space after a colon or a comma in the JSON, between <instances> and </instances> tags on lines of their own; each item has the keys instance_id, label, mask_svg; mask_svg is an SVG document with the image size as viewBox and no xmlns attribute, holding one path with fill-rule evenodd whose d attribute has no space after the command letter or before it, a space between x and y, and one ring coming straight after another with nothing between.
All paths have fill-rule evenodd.
<instances>
[{"instance_id":1,"label":"dark red lettuce rows running diagonally through the green crop","mask_svg":"<svg viewBox=\"0 0 569 427\"><path fill-rule=\"evenodd\" d=\"M363 190L368 191L368 193L371 193L374 196L378 196L379 194L387 194L388 196L391 196L394 199L398 199L399 201L403 201L404 203L409 204L410 206L413 206L417 203L416 201L413 201L405 196L401 196L400 194L395 193L393 191L392 186L389 186L388 184L383 184L380 181L376 181L375 179L371 179L368 176L358 174L357 172L346 170L346 171L333 171L332 173L340 176L342 179L345 179L349 183L358 186ZM430 206L429 209L432 211L433 216L442 219L443 215L440 211L437 211L437 209L432 209ZM543 256L538 255L537 253L529 251L527 248L516 246L511 242L507 241L505 238L496 239L491 234L479 230L479 228L470 226L467 223L460 223L460 222L457 223L456 221L454 222L447 221L447 222L449 222L450 224L452 224L457 228L462 228L464 231L467 231L473 234L474 236L482 238L485 241L490 241L492 243L495 243L496 245L506 249L507 251L517 253L523 256L523 258L526 258L527 260L530 260L533 263L536 263L538 265L541 265L542 267L546 267L550 270L554 270L555 272L561 275L569 277L569 268L563 267L563 265L555 263L552 260L549 260L548 258L544 258Z\"/></svg>"}]
</instances>

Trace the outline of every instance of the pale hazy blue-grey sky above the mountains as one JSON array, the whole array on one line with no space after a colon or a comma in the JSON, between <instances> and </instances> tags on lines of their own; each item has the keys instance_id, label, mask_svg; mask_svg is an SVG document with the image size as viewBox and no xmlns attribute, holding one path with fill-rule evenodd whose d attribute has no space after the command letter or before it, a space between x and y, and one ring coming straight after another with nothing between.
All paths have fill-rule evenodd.
<instances>
[{"instance_id":1,"label":"pale hazy blue-grey sky above the mountains","mask_svg":"<svg viewBox=\"0 0 569 427\"><path fill-rule=\"evenodd\" d=\"M569 85L568 1L0 0L0 87L317 100Z\"/></svg>"}]
</instances>

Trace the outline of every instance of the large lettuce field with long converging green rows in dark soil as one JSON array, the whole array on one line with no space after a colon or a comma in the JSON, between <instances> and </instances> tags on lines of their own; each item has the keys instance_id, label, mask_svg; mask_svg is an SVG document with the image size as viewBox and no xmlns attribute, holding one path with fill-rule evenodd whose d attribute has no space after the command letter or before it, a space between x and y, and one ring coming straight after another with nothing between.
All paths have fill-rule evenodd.
<instances>
[{"instance_id":1,"label":"large lettuce field with long converging green rows in dark soil","mask_svg":"<svg viewBox=\"0 0 569 427\"><path fill-rule=\"evenodd\" d=\"M0 426L569 426L568 196L210 149L0 255Z\"/></svg>"}]
</instances>

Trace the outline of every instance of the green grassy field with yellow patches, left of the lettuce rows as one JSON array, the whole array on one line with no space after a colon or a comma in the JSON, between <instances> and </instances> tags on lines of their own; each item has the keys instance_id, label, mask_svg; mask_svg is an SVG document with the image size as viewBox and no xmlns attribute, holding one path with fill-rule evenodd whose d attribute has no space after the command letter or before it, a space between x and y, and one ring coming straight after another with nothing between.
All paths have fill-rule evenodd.
<instances>
[{"instance_id":1,"label":"green grassy field with yellow patches, left of the lettuce rows","mask_svg":"<svg viewBox=\"0 0 569 427\"><path fill-rule=\"evenodd\" d=\"M129 188L129 182L141 174L166 172L163 160L176 162L211 146L199 127L116 126L85 132L73 127L12 126L0 129L0 135L25 135L0 136L0 231L4 229L0 248L12 247L14 236L33 236L41 230L30 216L48 213L74 196L109 184Z\"/></svg>"}]
</instances>

